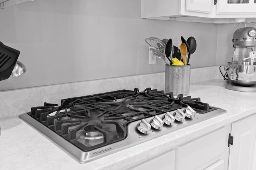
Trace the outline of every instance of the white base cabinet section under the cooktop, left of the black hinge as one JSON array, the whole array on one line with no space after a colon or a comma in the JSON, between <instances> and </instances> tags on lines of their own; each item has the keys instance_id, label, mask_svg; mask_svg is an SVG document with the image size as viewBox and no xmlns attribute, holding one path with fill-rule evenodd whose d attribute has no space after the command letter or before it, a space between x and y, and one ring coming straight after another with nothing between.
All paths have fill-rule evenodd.
<instances>
[{"instance_id":1,"label":"white base cabinet section under the cooktop, left of the black hinge","mask_svg":"<svg viewBox=\"0 0 256 170\"><path fill-rule=\"evenodd\" d=\"M128 169L227 170L228 133L230 128L222 127Z\"/></svg>"}]
</instances>

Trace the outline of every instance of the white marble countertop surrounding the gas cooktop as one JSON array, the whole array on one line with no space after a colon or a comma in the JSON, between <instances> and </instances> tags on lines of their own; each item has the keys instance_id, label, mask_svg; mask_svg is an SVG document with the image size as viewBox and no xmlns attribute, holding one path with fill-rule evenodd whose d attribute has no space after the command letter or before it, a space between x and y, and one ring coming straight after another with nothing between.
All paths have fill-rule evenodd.
<instances>
[{"instance_id":1,"label":"white marble countertop surrounding the gas cooktop","mask_svg":"<svg viewBox=\"0 0 256 170\"><path fill-rule=\"evenodd\" d=\"M200 97L202 102L225 109L227 113L86 164L76 162L19 119L18 115L1 118L0 169L114 170L127 168L256 113L255 93L228 90L224 88L224 80L192 83L189 95L192 98Z\"/></svg>"}]
</instances>

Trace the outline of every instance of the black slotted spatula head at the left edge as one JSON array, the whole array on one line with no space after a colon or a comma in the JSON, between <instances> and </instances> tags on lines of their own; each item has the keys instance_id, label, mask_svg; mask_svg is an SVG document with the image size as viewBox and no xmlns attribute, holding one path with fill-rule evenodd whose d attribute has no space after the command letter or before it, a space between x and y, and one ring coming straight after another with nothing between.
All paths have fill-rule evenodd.
<instances>
[{"instance_id":1,"label":"black slotted spatula head at the left edge","mask_svg":"<svg viewBox=\"0 0 256 170\"><path fill-rule=\"evenodd\" d=\"M0 81L10 77L20 51L0 43Z\"/></svg>"}]
</instances>

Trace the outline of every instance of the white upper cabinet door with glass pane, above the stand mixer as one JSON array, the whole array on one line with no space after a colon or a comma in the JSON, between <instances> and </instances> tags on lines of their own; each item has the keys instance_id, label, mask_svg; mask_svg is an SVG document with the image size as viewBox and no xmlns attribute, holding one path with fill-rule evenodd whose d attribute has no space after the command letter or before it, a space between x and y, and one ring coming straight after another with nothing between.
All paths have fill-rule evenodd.
<instances>
[{"instance_id":1,"label":"white upper cabinet door with glass pane, above the stand mixer","mask_svg":"<svg viewBox=\"0 0 256 170\"><path fill-rule=\"evenodd\" d=\"M256 0L218 0L217 14L256 14Z\"/></svg>"}]
</instances>

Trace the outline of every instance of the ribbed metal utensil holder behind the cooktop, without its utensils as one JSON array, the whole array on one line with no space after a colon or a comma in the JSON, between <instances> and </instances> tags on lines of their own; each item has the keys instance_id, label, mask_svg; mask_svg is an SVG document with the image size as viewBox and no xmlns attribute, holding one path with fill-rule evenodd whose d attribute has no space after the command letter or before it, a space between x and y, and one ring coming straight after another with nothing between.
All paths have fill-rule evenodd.
<instances>
[{"instance_id":1,"label":"ribbed metal utensil holder behind the cooktop, without its utensils","mask_svg":"<svg viewBox=\"0 0 256 170\"><path fill-rule=\"evenodd\" d=\"M165 65L165 92L174 96L188 95L190 88L190 64L186 66Z\"/></svg>"}]
</instances>

